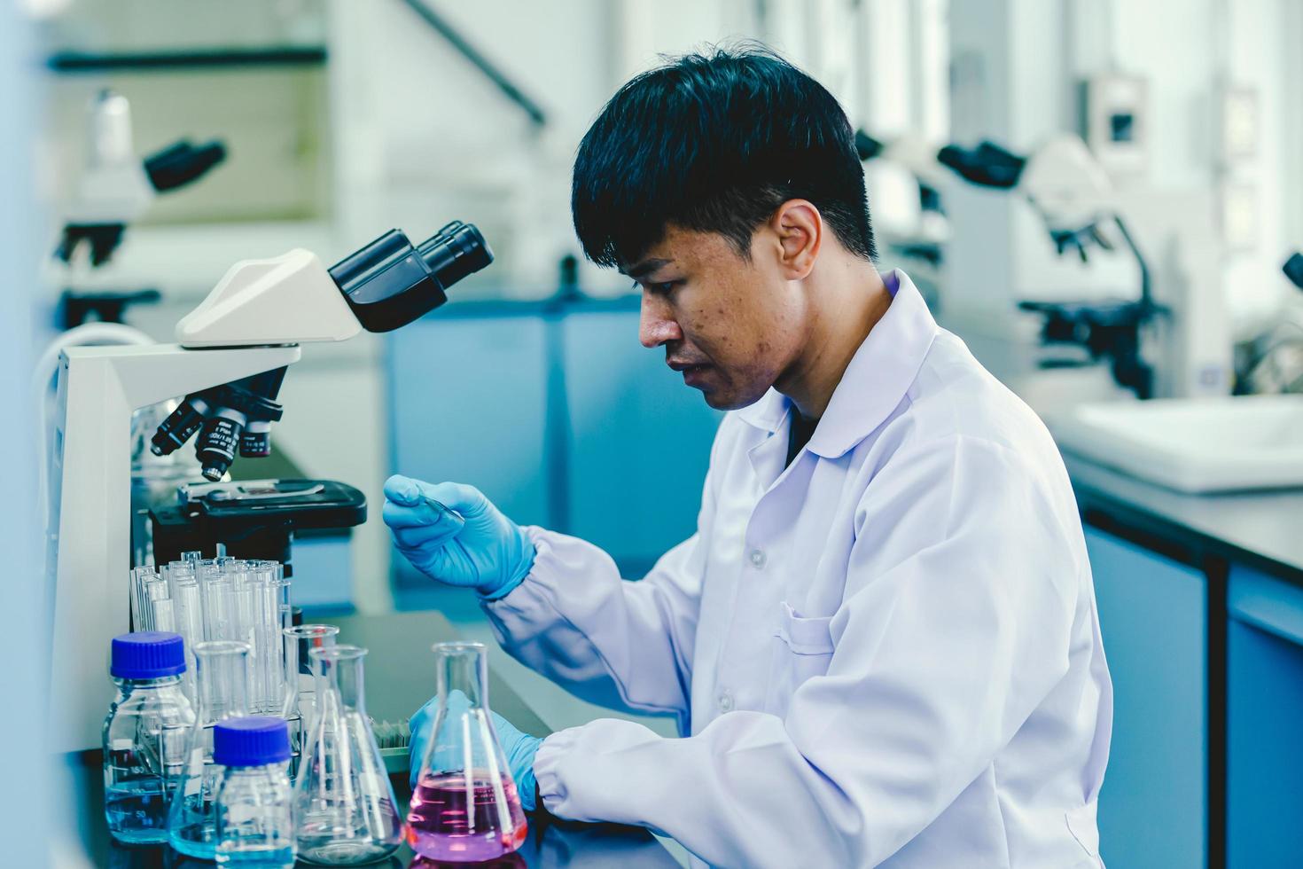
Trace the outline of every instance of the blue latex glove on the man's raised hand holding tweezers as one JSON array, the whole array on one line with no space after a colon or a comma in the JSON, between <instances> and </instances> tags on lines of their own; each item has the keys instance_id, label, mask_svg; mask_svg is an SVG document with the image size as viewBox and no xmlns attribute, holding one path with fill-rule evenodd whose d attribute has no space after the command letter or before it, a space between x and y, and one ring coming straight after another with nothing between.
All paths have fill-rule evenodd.
<instances>
[{"instance_id":1,"label":"blue latex glove on the man's raised hand holding tweezers","mask_svg":"<svg viewBox=\"0 0 1303 869\"><path fill-rule=\"evenodd\" d=\"M534 545L474 486L384 481L384 524L412 567L447 585L506 597L534 565Z\"/></svg>"}]
</instances>

